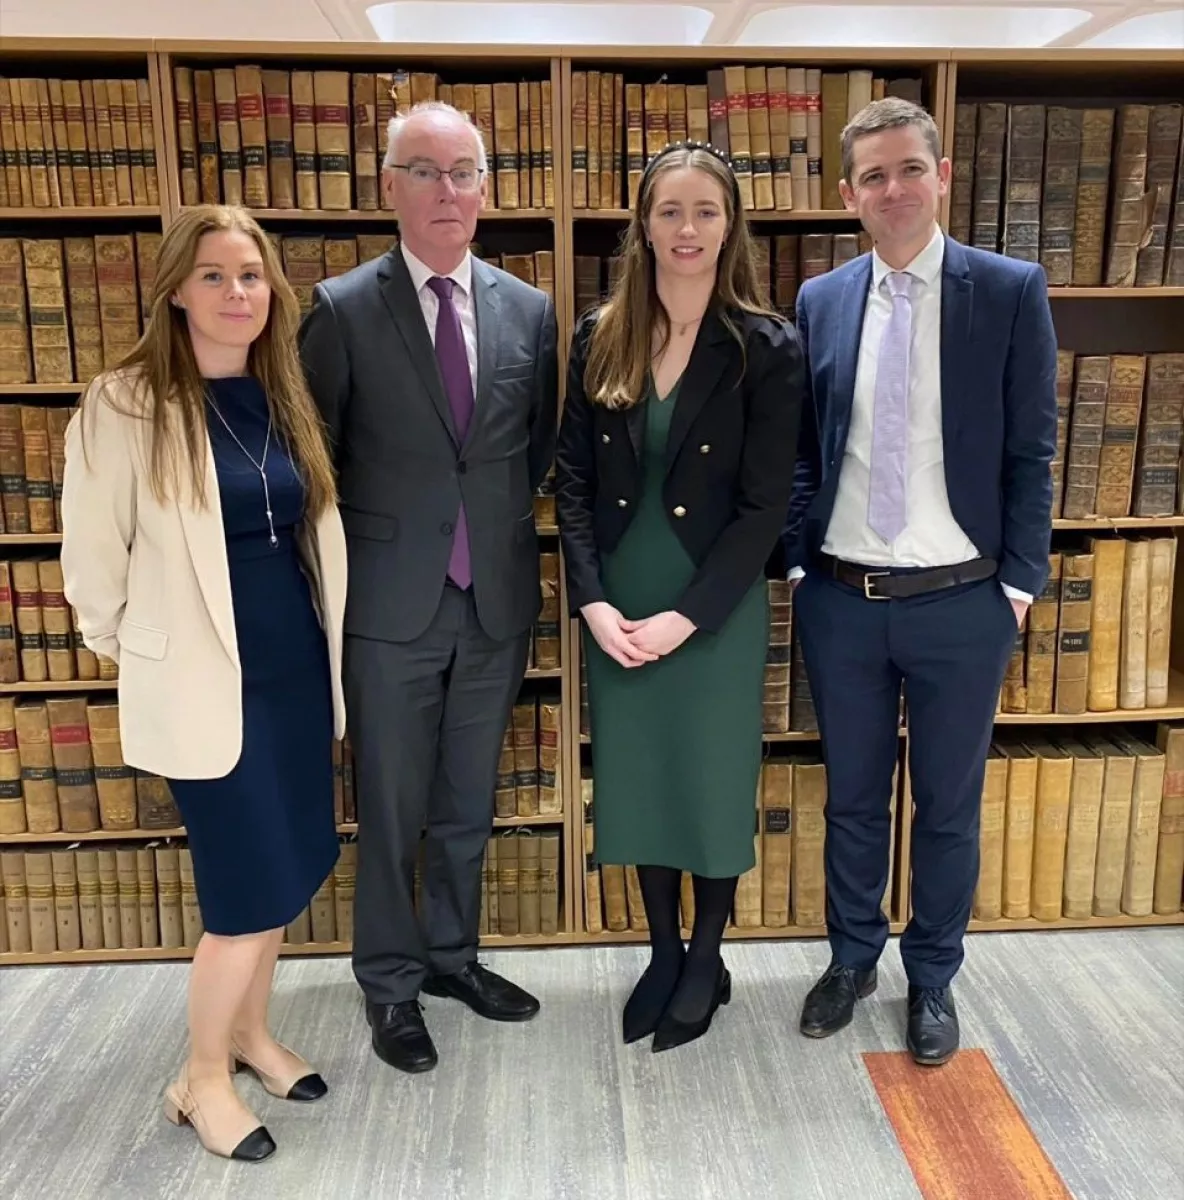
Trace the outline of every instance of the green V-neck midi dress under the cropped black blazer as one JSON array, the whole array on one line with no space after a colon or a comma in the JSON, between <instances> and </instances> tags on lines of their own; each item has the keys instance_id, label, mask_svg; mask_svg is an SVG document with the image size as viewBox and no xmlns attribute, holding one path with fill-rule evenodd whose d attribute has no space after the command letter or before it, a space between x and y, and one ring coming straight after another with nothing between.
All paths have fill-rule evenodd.
<instances>
[{"instance_id":1,"label":"green V-neck midi dress under the cropped black blazer","mask_svg":"<svg viewBox=\"0 0 1184 1200\"><path fill-rule=\"evenodd\" d=\"M617 548L601 557L606 599L633 620L674 608L696 570L662 499L679 384L661 401L653 386L647 394L637 511ZM620 666L584 629L597 863L714 877L756 864L768 641L763 577L717 632L696 630L644 666Z\"/></svg>"}]
</instances>

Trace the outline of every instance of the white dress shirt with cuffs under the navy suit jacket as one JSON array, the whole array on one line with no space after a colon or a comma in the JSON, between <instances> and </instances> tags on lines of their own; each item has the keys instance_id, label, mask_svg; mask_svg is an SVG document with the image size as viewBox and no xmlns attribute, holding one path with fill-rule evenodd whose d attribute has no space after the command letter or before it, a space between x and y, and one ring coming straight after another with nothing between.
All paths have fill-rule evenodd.
<instances>
[{"instance_id":1,"label":"white dress shirt with cuffs under the navy suit jacket","mask_svg":"<svg viewBox=\"0 0 1184 1200\"><path fill-rule=\"evenodd\" d=\"M942 263L945 238L933 236L904 268L913 276L913 332L908 370L908 448L906 458L906 526L887 542L867 523L871 481L872 421L879 346L892 311L884 282L892 270L872 251L872 277L859 340L855 391L835 506L823 539L823 553L869 566L948 566L980 557L978 547L954 520L945 488L942 446ZM789 572L794 578L800 569ZM1032 601L1008 584L1003 590Z\"/></svg>"}]
</instances>

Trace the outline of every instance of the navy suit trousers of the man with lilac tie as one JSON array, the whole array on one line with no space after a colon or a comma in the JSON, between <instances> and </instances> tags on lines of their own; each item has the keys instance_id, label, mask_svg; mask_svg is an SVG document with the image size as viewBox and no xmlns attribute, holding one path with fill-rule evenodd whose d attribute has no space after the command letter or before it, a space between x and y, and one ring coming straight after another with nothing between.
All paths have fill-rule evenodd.
<instances>
[{"instance_id":1,"label":"navy suit trousers of the man with lilac tie","mask_svg":"<svg viewBox=\"0 0 1184 1200\"><path fill-rule=\"evenodd\" d=\"M809 568L794 592L827 763L827 924L835 959L875 966L888 940L892 769L904 690L912 838L912 918L901 938L908 980L949 984L979 874L982 776L1016 640L996 578L904 600L869 600Z\"/></svg>"}]
</instances>

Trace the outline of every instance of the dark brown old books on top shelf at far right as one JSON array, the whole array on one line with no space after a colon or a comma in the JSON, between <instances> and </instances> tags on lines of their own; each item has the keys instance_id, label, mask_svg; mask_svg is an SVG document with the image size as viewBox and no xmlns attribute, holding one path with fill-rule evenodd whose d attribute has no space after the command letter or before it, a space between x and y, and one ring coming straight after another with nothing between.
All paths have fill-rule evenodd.
<instances>
[{"instance_id":1,"label":"dark brown old books on top shelf at far right","mask_svg":"<svg viewBox=\"0 0 1184 1200\"><path fill-rule=\"evenodd\" d=\"M955 106L950 234L1053 287L1184 287L1178 102Z\"/></svg>"}]
</instances>

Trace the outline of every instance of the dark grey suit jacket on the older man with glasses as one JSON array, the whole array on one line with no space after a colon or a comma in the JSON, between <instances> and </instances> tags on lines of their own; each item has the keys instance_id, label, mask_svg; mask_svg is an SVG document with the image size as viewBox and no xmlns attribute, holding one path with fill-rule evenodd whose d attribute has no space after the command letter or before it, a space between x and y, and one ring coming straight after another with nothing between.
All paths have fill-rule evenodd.
<instances>
[{"instance_id":1,"label":"dark grey suit jacket on the older man with glasses","mask_svg":"<svg viewBox=\"0 0 1184 1200\"><path fill-rule=\"evenodd\" d=\"M533 505L554 454L554 305L479 258L473 290L476 408L461 443L398 247L313 289L300 353L337 467L347 635L402 642L427 629L462 499L482 628L505 640L539 616Z\"/></svg>"}]
</instances>

